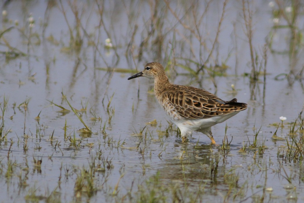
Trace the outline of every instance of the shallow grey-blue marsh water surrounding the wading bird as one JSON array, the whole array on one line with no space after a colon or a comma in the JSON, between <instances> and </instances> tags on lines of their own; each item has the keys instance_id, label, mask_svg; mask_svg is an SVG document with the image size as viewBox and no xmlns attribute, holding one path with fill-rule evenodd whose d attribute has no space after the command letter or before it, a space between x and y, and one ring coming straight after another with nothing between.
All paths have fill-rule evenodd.
<instances>
[{"instance_id":1,"label":"shallow grey-blue marsh water surrounding the wading bird","mask_svg":"<svg viewBox=\"0 0 304 203\"><path fill-rule=\"evenodd\" d=\"M223 2L61 3L9 1L2 5L7 15L2 15L1 32L13 26L0 37L0 113L7 99L1 114L2 202L145 202L143 197L155 193L155 202L304 200L302 161L284 158L285 137L292 142L290 126L303 109L299 74L303 43L300 40L291 46L292 30L275 27L279 5L250 4L254 11L252 44L261 72L263 46L268 42L265 80L261 75L250 83L242 2L227 3L218 43L208 61ZM199 22L205 8L206 14L193 31L194 21ZM301 37L303 5L298 8L295 25ZM278 25L286 23L281 17ZM106 47L107 38L113 47ZM200 66L206 61L204 74L193 76L181 67L197 70L191 60ZM165 133L171 122L150 91L153 81L127 80L151 61L168 64L169 79L175 84L204 88L224 100L238 98L248 109L212 127L216 145L209 145L209 138L198 132L183 144L174 125ZM215 65L228 68L219 67L219 73L210 77L208 70ZM295 74L285 77L291 71ZM77 113L92 134L79 133L84 125L77 116L61 112L50 102L70 110L62 94L74 108L85 109ZM92 119L94 115L97 119ZM280 116L287 117L277 131L284 139L273 140ZM156 126L147 124L154 119ZM222 150L226 125L232 141L229 149ZM250 148L259 129L257 147ZM247 150L241 153L243 146ZM261 156L258 146L264 146ZM41 166L34 160L42 160ZM91 179L81 175L81 171L90 174L90 169L94 170ZM77 191L79 177L93 181L92 196L85 189Z\"/></svg>"}]
</instances>

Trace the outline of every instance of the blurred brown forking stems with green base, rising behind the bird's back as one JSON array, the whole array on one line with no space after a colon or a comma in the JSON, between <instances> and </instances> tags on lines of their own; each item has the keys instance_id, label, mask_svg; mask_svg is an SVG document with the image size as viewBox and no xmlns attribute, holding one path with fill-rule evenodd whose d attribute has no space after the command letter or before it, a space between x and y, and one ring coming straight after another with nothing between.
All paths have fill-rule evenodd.
<instances>
[{"instance_id":1,"label":"blurred brown forking stems with green base, rising behind the bird's back","mask_svg":"<svg viewBox=\"0 0 304 203\"><path fill-rule=\"evenodd\" d=\"M185 12L184 16L180 14L180 11L174 10L174 8L171 6L169 1L165 1L167 8L171 12L171 14L174 16L174 18L178 21L178 23L189 33L189 36L186 36L185 34L174 32L173 34L173 42L172 42L172 49L170 49L170 55L168 57L168 60L171 61L170 67L174 68L174 66L181 67L184 69L188 74L192 76L197 76L199 73L207 73L209 77L212 80L212 83L215 87L217 87L215 77L219 75L223 75L225 72L227 65L225 62L222 62L220 64L218 62L219 59L219 52L217 47L219 46L219 35L220 31L222 29L222 24L225 19L226 14L226 5L227 1L224 1L222 4L222 11L219 15L219 21L216 27L215 35L212 35L212 37L208 38L205 37L205 33L203 33L199 27L205 26L204 25L204 19L208 16L208 9L211 4L211 1L206 2L205 10L198 11L197 10L197 2L192 2L191 5L187 6L188 11ZM189 15L192 13L192 15ZM193 26L188 25L188 20L193 23ZM190 55L189 57L185 56L178 56L175 51L174 47L176 43L179 43L176 40L176 35L181 36L181 38L187 43L187 45L190 47ZM213 37L214 36L214 37ZM192 38L193 40L187 39L187 37ZM208 44L207 42L211 41L211 48L209 46L206 46ZM198 43L200 44L199 48L199 56L195 53L194 45ZM180 61L180 62L179 62ZM207 67L207 64L210 64L209 67ZM213 64L213 65L211 65ZM175 70L176 71L176 70Z\"/></svg>"}]
</instances>

